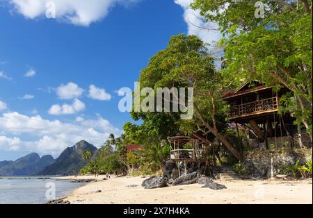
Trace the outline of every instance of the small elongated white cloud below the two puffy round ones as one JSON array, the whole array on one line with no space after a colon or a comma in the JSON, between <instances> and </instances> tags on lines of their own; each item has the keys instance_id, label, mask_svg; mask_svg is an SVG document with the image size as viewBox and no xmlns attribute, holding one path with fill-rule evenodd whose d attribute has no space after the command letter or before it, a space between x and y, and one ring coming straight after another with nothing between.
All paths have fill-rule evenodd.
<instances>
[{"instance_id":1,"label":"small elongated white cloud below the two puffy round ones","mask_svg":"<svg viewBox=\"0 0 313 218\"><path fill-rule=\"evenodd\" d=\"M81 112L82 110L86 109L85 103L80 101L79 99L74 99L74 102L72 105L69 105L67 103L61 105L55 104L51 106L49 109L50 115L74 115L77 112Z\"/></svg>"}]
</instances>

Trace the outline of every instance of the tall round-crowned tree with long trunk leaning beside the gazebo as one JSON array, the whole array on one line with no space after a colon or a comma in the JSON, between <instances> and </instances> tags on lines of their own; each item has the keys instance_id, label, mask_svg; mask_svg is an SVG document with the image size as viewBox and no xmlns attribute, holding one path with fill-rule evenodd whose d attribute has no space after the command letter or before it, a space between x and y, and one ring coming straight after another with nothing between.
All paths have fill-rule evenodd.
<instances>
[{"instance_id":1,"label":"tall round-crowned tree with long trunk leaning beside the gazebo","mask_svg":"<svg viewBox=\"0 0 313 218\"><path fill-rule=\"evenodd\" d=\"M225 115L225 103L220 100L221 81L206 44L195 35L183 34L172 36L168 47L150 59L139 78L141 87L152 87L155 91L158 87L193 87L195 116L189 121L179 121L181 128L189 132L198 128L203 135L213 134L242 160L218 129L217 117ZM172 94L172 99L177 101L178 97Z\"/></svg>"}]
</instances>

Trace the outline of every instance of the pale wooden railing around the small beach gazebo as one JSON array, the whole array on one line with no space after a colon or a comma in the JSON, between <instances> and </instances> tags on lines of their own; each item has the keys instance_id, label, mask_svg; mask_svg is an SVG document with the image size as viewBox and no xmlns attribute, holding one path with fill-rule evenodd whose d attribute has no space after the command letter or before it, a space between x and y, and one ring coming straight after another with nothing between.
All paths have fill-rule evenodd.
<instances>
[{"instance_id":1,"label":"pale wooden railing around the small beach gazebo","mask_svg":"<svg viewBox=\"0 0 313 218\"><path fill-rule=\"evenodd\" d=\"M170 151L172 160L203 160L207 156L204 149L176 149Z\"/></svg>"}]
</instances>

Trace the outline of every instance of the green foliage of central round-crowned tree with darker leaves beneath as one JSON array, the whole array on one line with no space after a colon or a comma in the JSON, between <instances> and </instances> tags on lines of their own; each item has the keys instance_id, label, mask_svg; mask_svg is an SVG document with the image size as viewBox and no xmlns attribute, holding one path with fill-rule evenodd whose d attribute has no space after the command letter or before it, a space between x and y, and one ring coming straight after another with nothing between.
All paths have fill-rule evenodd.
<instances>
[{"instance_id":1,"label":"green foliage of central round-crowned tree with darker leaves beneath","mask_svg":"<svg viewBox=\"0 0 313 218\"><path fill-rule=\"evenodd\" d=\"M179 132L190 135L200 129L202 133L209 130L211 135L223 138L223 135L218 134L224 128L226 115L226 104L221 98L225 90L223 77L216 72L214 59L207 51L207 44L198 37L183 34L172 36L168 47L153 56L149 65L141 71L139 82L141 87L152 87L154 90L158 87L192 87L193 102L196 106L195 116L191 120L179 119L179 112L133 114L136 118L143 119L143 124L138 126L141 133L166 140L165 136L177 135ZM173 94L172 99L177 100ZM175 119L170 119L170 125L167 126L164 121L166 117ZM175 131L168 132L172 128ZM163 133L160 129L167 134L160 134ZM142 134L139 134L137 139L140 140L141 137ZM147 138L150 139L151 137ZM223 143L230 149L231 144L225 138ZM239 155L236 156L239 158Z\"/></svg>"}]
</instances>

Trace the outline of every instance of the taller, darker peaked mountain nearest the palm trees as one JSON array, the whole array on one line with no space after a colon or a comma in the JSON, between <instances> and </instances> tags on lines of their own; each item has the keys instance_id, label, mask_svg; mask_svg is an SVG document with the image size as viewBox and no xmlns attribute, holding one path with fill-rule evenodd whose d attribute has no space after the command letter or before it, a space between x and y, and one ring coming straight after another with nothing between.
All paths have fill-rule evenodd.
<instances>
[{"instance_id":1,"label":"taller, darker peaked mountain nearest the palm trees","mask_svg":"<svg viewBox=\"0 0 313 218\"><path fill-rule=\"evenodd\" d=\"M97 148L93 144L82 140L72 147L65 149L61 155L56 158L54 164L46 167L40 172L40 175L75 175L79 169L85 167L90 160L83 160L83 151L93 151L93 156L96 155ZM93 157L94 158L94 157Z\"/></svg>"}]
</instances>

